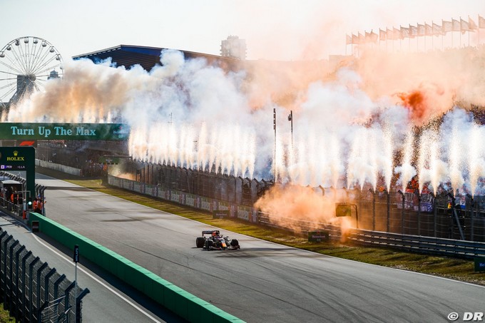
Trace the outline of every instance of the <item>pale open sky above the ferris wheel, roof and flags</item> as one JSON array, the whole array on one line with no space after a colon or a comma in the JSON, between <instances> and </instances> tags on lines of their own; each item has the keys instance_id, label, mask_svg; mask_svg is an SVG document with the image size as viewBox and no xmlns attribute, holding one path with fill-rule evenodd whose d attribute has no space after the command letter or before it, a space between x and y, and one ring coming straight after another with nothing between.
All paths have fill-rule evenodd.
<instances>
[{"instance_id":1,"label":"pale open sky above the ferris wheel, roof and flags","mask_svg":"<svg viewBox=\"0 0 485 323\"><path fill-rule=\"evenodd\" d=\"M239 36L247 59L298 61L345 54L346 34L485 15L483 0L0 0L0 48L46 39L63 58L118 45L218 55Z\"/></svg>"}]
</instances>

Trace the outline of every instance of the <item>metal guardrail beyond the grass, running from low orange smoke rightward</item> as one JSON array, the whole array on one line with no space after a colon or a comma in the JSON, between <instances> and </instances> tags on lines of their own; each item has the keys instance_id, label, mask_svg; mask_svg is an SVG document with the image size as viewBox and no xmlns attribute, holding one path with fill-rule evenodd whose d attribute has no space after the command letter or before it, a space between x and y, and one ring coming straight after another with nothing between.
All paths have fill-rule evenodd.
<instances>
[{"instance_id":1,"label":"metal guardrail beyond the grass, running from low orange smoke rightward","mask_svg":"<svg viewBox=\"0 0 485 323\"><path fill-rule=\"evenodd\" d=\"M321 222L278 217L272 220L267 213L260 212L258 222L262 225L277 227L283 230L305 234L309 231L327 231L332 240L342 239L342 230L337 225ZM278 225L285 223L285 226ZM289 227L291 229L289 229ZM400 235L398 233L379 232L371 230L349 229L344 233L347 240L359 245L385 246L409 252L421 252L432 255L446 255L451 257L485 257L485 242L452 240L437 237L424 237L420 235Z\"/></svg>"}]
</instances>

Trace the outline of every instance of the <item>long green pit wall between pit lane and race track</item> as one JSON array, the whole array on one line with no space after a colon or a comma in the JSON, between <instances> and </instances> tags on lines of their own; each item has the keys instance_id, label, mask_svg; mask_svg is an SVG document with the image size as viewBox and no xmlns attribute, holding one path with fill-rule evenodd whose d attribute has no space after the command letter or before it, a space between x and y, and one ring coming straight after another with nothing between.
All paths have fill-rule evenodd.
<instances>
[{"instance_id":1,"label":"long green pit wall between pit lane and race track","mask_svg":"<svg viewBox=\"0 0 485 323\"><path fill-rule=\"evenodd\" d=\"M29 224L39 221L39 230L66 247L78 245L83 257L146 294L155 302L189 322L243 322L213 304L163 280L98 243L83 237L38 213L30 213Z\"/></svg>"}]
</instances>

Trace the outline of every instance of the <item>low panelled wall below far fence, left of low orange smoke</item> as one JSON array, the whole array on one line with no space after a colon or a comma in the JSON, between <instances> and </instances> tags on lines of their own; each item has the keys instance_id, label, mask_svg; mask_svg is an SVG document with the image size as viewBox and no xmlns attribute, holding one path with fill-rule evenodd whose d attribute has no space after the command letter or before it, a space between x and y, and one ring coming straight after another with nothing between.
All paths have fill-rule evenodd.
<instances>
[{"instance_id":1,"label":"low panelled wall below far fence, left of low orange smoke","mask_svg":"<svg viewBox=\"0 0 485 323\"><path fill-rule=\"evenodd\" d=\"M162 188L157 185L148 185L137 182L136 180L127 180L108 175L108 184L131 190L143 195L150 195L153 198L160 198L170 202L175 202L188 207L194 207L206 212L229 211L229 217L237 217L249 222L257 222L257 209L246 205L237 205L235 203L224 202L214 198L204 198L199 195L189 194L180 190Z\"/></svg>"}]
</instances>

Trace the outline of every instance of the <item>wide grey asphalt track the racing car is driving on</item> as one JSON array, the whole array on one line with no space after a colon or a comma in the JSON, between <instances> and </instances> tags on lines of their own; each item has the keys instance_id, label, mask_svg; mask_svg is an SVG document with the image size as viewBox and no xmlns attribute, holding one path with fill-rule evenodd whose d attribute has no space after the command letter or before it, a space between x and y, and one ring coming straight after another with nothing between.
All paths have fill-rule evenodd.
<instances>
[{"instance_id":1,"label":"wide grey asphalt track the racing car is driving on","mask_svg":"<svg viewBox=\"0 0 485 323\"><path fill-rule=\"evenodd\" d=\"M224 230L241 250L204 251L195 247L195 237L213 227L61 180L36 183L48 187L47 217L246 322L450 322L451 312L461 322L464 312L485 312L485 287L479 285ZM83 312L90 311L88 297ZM128 322L116 308L105 311Z\"/></svg>"}]
</instances>

